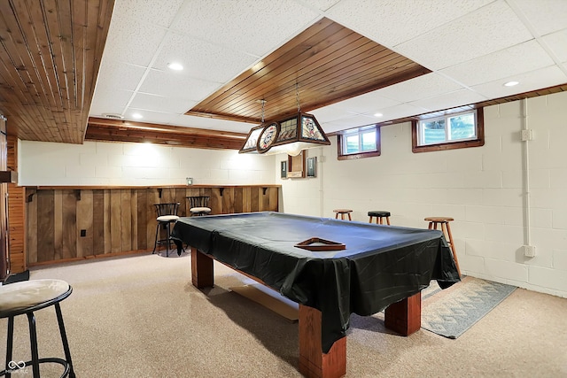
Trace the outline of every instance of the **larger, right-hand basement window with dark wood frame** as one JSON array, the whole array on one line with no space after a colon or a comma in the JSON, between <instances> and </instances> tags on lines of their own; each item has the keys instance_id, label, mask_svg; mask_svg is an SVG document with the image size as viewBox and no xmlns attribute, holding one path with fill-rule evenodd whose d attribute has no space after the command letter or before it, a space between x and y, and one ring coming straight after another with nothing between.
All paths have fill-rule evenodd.
<instances>
[{"instance_id":1,"label":"larger, right-hand basement window with dark wood frame","mask_svg":"<svg viewBox=\"0 0 567 378\"><path fill-rule=\"evenodd\" d=\"M412 121L412 151L454 150L485 144L483 109Z\"/></svg>"}]
</instances>

